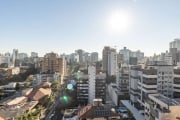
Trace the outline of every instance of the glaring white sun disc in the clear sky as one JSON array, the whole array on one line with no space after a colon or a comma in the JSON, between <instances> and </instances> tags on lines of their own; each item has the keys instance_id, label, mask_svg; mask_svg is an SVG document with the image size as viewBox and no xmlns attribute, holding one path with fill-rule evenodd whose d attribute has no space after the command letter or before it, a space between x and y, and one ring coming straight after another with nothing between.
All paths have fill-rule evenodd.
<instances>
[{"instance_id":1,"label":"glaring white sun disc in the clear sky","mask_svg":"<svg viewBox=\"0 0 180 120\"><path fill-rule=\"evenodd\" d=\"M126 32L131 24L131 18L126 11L113 11L109 16L108 26L111 33Z\"/></svg>"}]
</instances>

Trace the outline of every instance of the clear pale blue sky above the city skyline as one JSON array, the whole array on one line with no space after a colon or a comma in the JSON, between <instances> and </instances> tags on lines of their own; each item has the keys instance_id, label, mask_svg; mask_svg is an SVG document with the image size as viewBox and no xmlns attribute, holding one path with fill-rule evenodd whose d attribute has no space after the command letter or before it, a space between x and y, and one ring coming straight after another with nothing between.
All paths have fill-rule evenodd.
<instances>
[{"instance_id":1,"label":"clear pale blue sky above the city skyline","mask_svg":"<svg viewBox=\"0 0 180 120\"><path fill-rule=\"evenodd\" d=\"M81 48L101 54L104 46L126 46L146 56L158 54L180 38L179 5L180 0L1 0L0 53L17 48L43 56ZM110 26L117 11L128 23L113 24L127 24L126 29Z\"/></svg>"}]
</instances>

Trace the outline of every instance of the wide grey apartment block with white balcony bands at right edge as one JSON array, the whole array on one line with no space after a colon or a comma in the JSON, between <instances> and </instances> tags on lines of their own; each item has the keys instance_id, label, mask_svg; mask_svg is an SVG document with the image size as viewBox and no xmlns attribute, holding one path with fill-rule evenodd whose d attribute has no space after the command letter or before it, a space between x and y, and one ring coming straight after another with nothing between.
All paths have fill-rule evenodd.
<instances>
[{"instance_id":1,"label":"wide grey apartment block with white balcony bands at right edge","mask_svg":"<svg viewBox=\"0 0 180 120\"><path fill-rule=\"evenodd\" d=\"M144 111L150 99L149 95L159 94L170 99L180 98L179 71L179 68L162 62L154 62L154 64L145 67L131 67L131 103L139 110Z\"/></svg>"}]
</instances>

